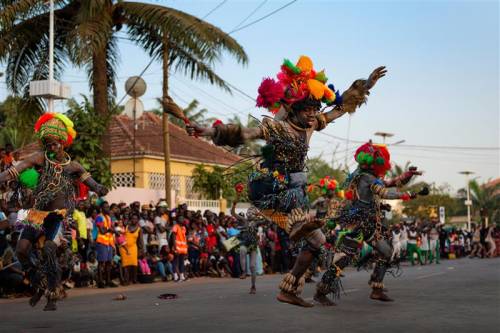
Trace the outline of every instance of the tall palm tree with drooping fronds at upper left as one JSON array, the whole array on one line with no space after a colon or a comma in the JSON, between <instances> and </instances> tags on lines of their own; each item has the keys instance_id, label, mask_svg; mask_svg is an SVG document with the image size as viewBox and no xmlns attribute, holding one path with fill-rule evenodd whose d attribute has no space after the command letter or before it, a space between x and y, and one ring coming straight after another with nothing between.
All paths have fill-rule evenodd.
<instances>
[{"instance_id":1,"label":"tall palm tree with drooping fronds at upper left","mask_svg":"<svg viewBox=\"0 0 500 333\"><path fill-rule=\"evenodd\" d=\"M247 62L243 48L217 27L182 11L157 4L120 0L55 0L55 77L66 62L86 68L93 103L108 115L115 96L117 39L128 38L167 68L208 79L229 91L213 70L223 51ZM48 76L48 6L40 0L0 0L0 62L7 64L10 90L27 94L28 83Z\"/></svg>"}]
</instances>

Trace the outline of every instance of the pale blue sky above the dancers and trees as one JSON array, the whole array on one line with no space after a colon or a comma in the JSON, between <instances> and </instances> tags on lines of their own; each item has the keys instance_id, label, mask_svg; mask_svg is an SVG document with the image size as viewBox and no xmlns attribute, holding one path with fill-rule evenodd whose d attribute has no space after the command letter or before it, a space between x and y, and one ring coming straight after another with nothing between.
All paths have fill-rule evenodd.
<instances>
[{"instance_id":1,"label":"pale blue sky above the dancers and trees","mask_svg":"<svg viewBox=\"0 0 500 333\"><path fill-rule=\"evenodd\" d=\"M217 1L157 2L203 17ZM289 1L269 0L249 18L250 23ZM227 0L206 21L224 31L233 30L262 0ZM125 35L125 32L120 33ZM324 68L330 82L343 91L372 69L385 65L388 74L372 90L368 104L316 134L309 156L321 156L335 165L354 165L358 141L374 139L377 131L394 133L388 142L405 140L391 148L393 162L411 161L425 171L422 180L465 184L458 172L476 172L480 181L500 175L499 138L499 3L498 1L315 1L299 0L271 17L235 32L233 37L249 57L241 66L224 56L215 70L246 94L256 97L264 77L274 77L283 58L295 62L300 55ZM120 41L118 99L124 81L139 74L148 56L130 41ZM0 66L0 71L3 66ZM161 64L154 63L144 79L146 109L156 107L161 95ZM69 69L63 81L72 94L89 94L85 73ZM171 95L181 106L196 98L209 115L224 120L265 114L255 102L238 92L227 94L203 82L174 74ZM0 98L6 95L0 84ZM62 103L57 111L64 110ZM341 139L332 137L336 136ZM418 146L418 147L414 147ZM435 148L427 146L440 146ZM462 149L481 147L493 149ZM337 154L333 154L337 149Z\"/></svg>"}]
</instances>

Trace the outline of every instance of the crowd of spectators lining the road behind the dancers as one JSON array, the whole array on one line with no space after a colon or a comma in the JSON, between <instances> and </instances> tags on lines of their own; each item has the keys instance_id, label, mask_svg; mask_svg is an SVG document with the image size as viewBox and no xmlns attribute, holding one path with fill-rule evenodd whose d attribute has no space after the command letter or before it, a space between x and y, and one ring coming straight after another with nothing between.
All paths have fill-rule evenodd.
<instances>
[{"instance_id":1,"label":"crowd of spectators lining the road behind the dancers","mask_svg":"<svg viewBox=\"0 0 500 333\"><path fill-rule=\"evenodd\" d=\"M10 226L0 230L0 294L28 286L15 258L19 233L13 227L25 210L20 201L8 198L9 191L0 212L0 220L7 220ZM182 282L200 276L245 278L250 274L249 267L240 265L238 246L228 245L240 232L233 216L193 211L185 204L169 209L163 200L146 205L100 200L78 202L71 239L61 242L59 260L66 288ZM323 268L341 232L338 228L329 232L326 259L320 261ZM394 256L411 264L415 259L427 264L440 258L495 256L500 236L492 226L467 232L422 221L393 225L387 235ZM295 246L276 225L259 226L257 274L288 272L298 253Z\"/></svg>"}]
</instances>

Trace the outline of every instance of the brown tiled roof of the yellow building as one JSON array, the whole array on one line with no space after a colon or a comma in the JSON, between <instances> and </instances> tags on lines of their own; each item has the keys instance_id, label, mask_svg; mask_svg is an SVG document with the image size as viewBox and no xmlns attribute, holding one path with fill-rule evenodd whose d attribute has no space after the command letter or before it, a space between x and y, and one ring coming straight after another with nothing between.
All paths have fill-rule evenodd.
<instances>
[{"instance_id":1,"label":"brown tiled roof of the yellow building","mask_svg":"<svg viewBox=\"0 0 500 333\"><path fill-rule=\"evenodd\" d=\"M109 126L111 158L133 156L133 120L126 115L113 117ZM137 119L136 157L149 155L163 158L162 119L144 112ZM169 126L170 157L218 165L232 165L240 160L236 154L217 147L203 139L189 136L183 128Z\"/></svg>"}]
</instances>

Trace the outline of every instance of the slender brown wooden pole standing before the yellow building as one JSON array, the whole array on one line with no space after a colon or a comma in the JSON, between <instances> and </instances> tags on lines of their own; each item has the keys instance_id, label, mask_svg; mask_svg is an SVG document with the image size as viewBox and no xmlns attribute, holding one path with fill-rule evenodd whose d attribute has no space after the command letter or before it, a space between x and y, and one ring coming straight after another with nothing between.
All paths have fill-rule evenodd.
<instances>
[{"instance_id":1,"label":"slender brown wooden pole standing before the yellow building","mask_svg":"<svg viewBox=\"0 0 500 333\"><path fill-rule=\"evenodd\" d=\"M162 101L168 97L168 35L164 36L163 40L163 86L162 86ZM168 130L168 113L165 103L163 103L163 155L165 160L165 200L170 208L172 205L170 191L170 137Z\"/></svg>"}]
</instances>

